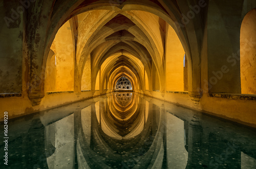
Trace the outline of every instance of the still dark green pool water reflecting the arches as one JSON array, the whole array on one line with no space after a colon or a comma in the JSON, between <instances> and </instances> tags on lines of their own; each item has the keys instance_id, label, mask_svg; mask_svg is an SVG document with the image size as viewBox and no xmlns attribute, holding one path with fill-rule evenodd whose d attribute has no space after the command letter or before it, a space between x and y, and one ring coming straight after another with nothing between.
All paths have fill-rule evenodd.
<instances>
[{"instance_id":1,"label":"still dark green pool water reflecting the arches","mask_svg":"<svg viewBox=\"0 0 256 169\"><path fill-rule=\"evenodd\" d=\"M120 92L9 122L7 168L256 168L255 133Z\"/></svg>"}]
</instances>

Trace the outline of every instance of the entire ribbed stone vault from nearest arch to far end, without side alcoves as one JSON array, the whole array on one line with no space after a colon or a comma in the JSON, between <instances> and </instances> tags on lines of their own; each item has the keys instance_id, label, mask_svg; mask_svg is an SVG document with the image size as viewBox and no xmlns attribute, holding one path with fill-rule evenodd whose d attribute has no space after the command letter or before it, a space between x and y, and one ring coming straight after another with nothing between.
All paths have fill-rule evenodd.
<instances>
[{"instance_id":1,"label":"entire ribbed stone vault from nearest arch to far end, without side alcoves","mask_svg":"<svg viewBox=\"0 0 256 169\"><path fill-rule=\"evenodd\" d=\"M190 11L189 6L194 4L197 5L196 2L162 0L38 2L35 6L44 8L44 13L36 18L31 16L33 21L28 19L32 24L27 25L27 36L37 37L37 32L40 32L40 41L24 41L28 44L24 45L25 53L34 56L29 58L30 100L38 104L45 95L44 67L47 67L48 53L53 41L57 40L55 35L60 28L67 26L67 22L73 42L63 46L73 51L72 78L76 94L81 93L84 67L91 67L91 84L87 88L92 91L112 91L113 80L123 74L134 81L137 92L147 89L164 93L166 30L170 28L176 32L186 53L189 94L198 96L203 34L201 15L195 15L186 25L181 24L182 14ZM51 17L46 20L45 15ZM44 25L39 27L41 22ZM86 65L87 62L90 66Z\"/></svg>"}]
</instances>

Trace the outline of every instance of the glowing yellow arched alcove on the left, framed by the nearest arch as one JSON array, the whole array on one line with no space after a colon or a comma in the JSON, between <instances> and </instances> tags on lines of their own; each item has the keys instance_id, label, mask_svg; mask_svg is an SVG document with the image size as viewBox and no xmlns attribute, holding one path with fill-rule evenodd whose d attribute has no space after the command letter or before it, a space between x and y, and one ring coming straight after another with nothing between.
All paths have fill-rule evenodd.
<instances>
[{"instance_id":1,"label":"glowing yellow arched alcove on the left, framed by the nearest arch","mask_svg":"<svg viewBox=\"0 0 256 169\"><path fill-rule=\"evenodd\" d=\"M67 21L58 30L51 45L54 57L50 59L50 62L47 62L46 67L54 67L54 70L47 74L46 91L74 90L74 47L72 36L70 22ZM47 70L50 69L47 68Z\"/></svg>"}]
</instances>

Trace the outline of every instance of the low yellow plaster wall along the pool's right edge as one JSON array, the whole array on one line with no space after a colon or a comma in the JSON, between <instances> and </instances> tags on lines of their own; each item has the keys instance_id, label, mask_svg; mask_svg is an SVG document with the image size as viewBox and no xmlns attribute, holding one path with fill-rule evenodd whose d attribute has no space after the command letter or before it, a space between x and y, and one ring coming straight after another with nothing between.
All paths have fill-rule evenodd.
<instances>
[{"instance_id":1,"label":"low yellow plaster wall along the pool's right edge","mask_svg":"<svg viewBox=\"0 0 256 169\"><path fill-rule=\"evenodd\" d=\"M202 96L199 105L194 105L187 92L144 92L148 96L153 96L160 100L181 105L190 109L198 110L206 114L218 116L224 119L232 120L240 124L256 127L256 105L254 100L237 99L235 96L230 98Z\"/></svg>"}]
</instances>

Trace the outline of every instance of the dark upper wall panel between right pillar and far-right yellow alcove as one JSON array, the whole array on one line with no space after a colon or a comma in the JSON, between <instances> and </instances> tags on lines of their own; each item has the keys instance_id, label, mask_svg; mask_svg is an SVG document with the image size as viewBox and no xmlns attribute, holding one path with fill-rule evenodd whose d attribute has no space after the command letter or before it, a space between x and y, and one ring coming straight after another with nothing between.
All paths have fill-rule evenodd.
<instances>
[{"instance_id":1,"label":"dark upper wall panel between right pillar and far-right yellow alcove","mask_svg":"<svg viewBox=\"0 0 256 169\"><path fill-rule=\"evenodd\" d=\"M240 20L243 1L209 1L208 80L209 91L241 93Z\"/></svg>"}]
</instances>

